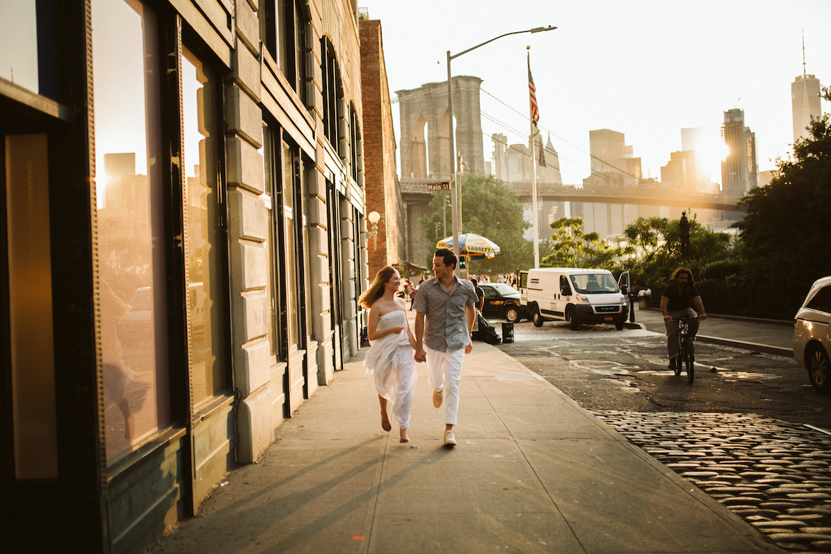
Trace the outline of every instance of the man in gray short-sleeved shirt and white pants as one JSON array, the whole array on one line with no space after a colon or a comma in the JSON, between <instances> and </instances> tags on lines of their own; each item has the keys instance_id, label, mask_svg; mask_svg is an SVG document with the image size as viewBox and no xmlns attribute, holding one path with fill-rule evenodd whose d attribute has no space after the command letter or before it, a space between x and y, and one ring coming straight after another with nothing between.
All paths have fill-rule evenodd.
<instances>
[{"instance_id":1,"label":"man in gray short-sleeved shirt and white pants","mask_svg":"<svg viewBox=\"0 0 831 554\"><path fill-rule=\"evenodd\" d=\"M423 282L416 295L416 361L427 362L427 382L433 405L445 403L445 444L455 446L453 426L459 411L462 362L473 344L474 306L479 301L470 281L455 276L456 256L447 248L435 251L435 277ZM425 316L427 321L425 324Z\"/></svg>"}]
</instances>

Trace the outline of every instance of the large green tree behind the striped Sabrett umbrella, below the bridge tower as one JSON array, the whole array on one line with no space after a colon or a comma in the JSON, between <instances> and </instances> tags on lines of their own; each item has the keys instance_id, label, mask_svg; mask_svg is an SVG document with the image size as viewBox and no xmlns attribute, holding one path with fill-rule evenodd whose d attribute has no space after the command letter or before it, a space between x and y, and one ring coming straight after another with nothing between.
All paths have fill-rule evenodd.
<instances>
[{"instance_id":1,"label":"large green tree behind the striped Sabrett umbrella, below the bridge tower","mask_svg":"<svg viewBox=\"0 0 831 554\"><path fill-rule=\"evenodd\" d=\"M469 262L470 272L514 272L534 264L531 242L523 237L530 224L523 218L516 193L492 175L468 175L460 184L462 225L460 233L476 233L499 245L499 255L489 260ZM450 236L452 212L449 193L435 192L430 200L433 213L420 218L427 240L438 243ZM446 210L442 208L447 203ZM446 234L445 221L446 218ZM427 260L429 267L430 260Z\"/></svg>"}]
</instances>

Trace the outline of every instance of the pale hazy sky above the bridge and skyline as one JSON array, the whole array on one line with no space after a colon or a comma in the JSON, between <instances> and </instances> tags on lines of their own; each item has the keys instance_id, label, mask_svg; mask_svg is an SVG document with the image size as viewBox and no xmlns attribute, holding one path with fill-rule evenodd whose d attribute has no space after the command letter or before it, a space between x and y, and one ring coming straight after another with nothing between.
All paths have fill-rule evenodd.
<instances>
[{"instance_id":1,"label":"pale hazy sky above the bridge and skyline","mask_svg":"<svg viewBox=\"0 0 831 554\"><path fill-rule=\"evenodd\" d=\"M551 134L563 182L589 174L588 131L612 129L660 178L681 128L708 127L715 137L724 111L745 110L755 132L760 170L773 169L793 142L790 83L802 75L802 32L809 74L831 85L829 0L359 0L380 19L390 91L446 81L446 52L532 27L556 31L500 38L453 60L454 76L484 80L484 134L528 140L526 46L537 87L543 137ZM823 110L829 110L823 101ZM398 105L393 105L396 118ZM492 154L485 143L484 156ZM712 179L720 182L717 156Z\"/></svg>"}]
</instances>

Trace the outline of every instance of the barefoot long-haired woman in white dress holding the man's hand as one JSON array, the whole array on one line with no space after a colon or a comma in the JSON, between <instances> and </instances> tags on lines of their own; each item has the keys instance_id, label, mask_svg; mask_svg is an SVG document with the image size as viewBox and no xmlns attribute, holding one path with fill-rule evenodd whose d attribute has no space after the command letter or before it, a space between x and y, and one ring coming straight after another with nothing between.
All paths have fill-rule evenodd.
<instances>
[{"instance_id":1,"label":"barefoot long-haired woman in white dress holding the man's hand","mask_svg":"<svg viewBox=\"0 0 831 554\"><path fill-rule=\"evenodd\" d=\"M396 293L401 287L401 275L394 267L386 266L375 276L369 290L358 301L369 308L367 336L371 346L366 352L364 366L368 375L375 375L378 401L381 403L381 428L392 429L386 414L387 402L392 403L401 427L399 439L410 442L410 409L416 390L416 360L413 350L416 336L407 321L406 303Z\"/></svg>"}]
</instances>

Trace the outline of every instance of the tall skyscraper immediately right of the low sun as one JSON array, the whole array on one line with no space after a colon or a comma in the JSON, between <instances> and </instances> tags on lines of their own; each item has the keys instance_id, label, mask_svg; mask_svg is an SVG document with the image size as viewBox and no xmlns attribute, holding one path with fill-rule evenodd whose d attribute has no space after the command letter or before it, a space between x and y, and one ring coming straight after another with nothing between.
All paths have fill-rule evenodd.
<instances>
[{"instance_id":1,"label":"tall skyscraper immediately right of the low sun","mask_svg":"<svg viewBox=\"0 0 831 554\"><path fill-rule=\"evenodd\" d=\"M734 108L725 111L721 139L729 150L729 154L721 162L721 192L744 196L759 184L756 134L750 127L745 127L745 110Z\"/></svg>"}]
</instances>

